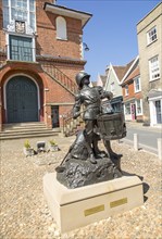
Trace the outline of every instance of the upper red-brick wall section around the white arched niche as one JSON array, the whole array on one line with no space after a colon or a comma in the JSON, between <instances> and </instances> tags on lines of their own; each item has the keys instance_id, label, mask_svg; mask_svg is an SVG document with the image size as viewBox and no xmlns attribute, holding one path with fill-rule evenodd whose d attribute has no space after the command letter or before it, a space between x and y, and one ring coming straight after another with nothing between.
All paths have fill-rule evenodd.
<instances>
[{"instance_id":1,"label":"upper red-brick wall section around the white arched niche","mask_svg":"<svg viewBox=\"0 0 162 239\"><path fill-rule=\"evenodd\" d=\"M49 1L50 2L50 1ZM64 16L67 40L57 39L55 18L59 15L46 12L42 2L37 1L37 49L40 54L80 59L82 22Z\"/></svg>"}]
</instances>

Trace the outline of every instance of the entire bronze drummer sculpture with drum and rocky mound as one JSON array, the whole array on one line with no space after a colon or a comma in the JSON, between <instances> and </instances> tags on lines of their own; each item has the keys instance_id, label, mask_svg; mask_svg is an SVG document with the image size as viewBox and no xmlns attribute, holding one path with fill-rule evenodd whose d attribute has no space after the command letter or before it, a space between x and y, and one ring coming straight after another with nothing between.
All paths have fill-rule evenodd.
<instances>
[{"instance_id":1,"label":"entire bronze drummer sculpture with drum and rocky mound","mask_svg":"<svg viewBox=\"0 0 162 239\"><path fill-rule=\"evenodd\" d=\"M123 114L114 113L110 100L112 92L102 87L89 87L89 78L85 72L76 75L79 91L75 97L73 117L80 115L85 129L79 131L66 156L57 168L58 180L67 188L77 188L90 184L110 180L122 176L120 160L122 155L113 152L110 140L126 136ZM107 99L108 104L102 104ZM99 150L98 142L102 138L105 151Z\"/></svg>"}]
</instances>

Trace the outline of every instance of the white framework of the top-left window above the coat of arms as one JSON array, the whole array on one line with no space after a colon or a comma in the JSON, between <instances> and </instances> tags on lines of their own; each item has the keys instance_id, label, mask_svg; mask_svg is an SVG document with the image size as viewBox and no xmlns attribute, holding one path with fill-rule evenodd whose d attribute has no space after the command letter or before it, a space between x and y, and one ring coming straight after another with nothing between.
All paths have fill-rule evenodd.
<instances>
[{"instance_id":1,"label":"white framework of the top-left window above the coat of arms","mask_svg":"<svg viewBox=\"0 0 162 239\"><path fill-rule=\"evenodd\" d=\"M18 5L16 7L12 7L11 5L11 0L7 0L8 1L8 5L3 5L3 15L5 17L5 14L4 14L4 8L5 10L8 10L8 13L9 13L9 18L5 20L3 17L3 27L7 28L8 25L10 24L13 24L14 21L22 21L22 22L25 22L27 23L27 26L29 26L34 32L36 32L36 0L34 0L34 10L30 10L30 0L26 0L26 3L27 3L27 8L20 8ZM13 0L12 0L13 2ZM23 12L27 12L27 17L26 18L23 18L23 17L13 17L12 18L12 9L16 9L16 12L18 12L20 10ZM18 10L20 9L20 10ZM20 11L20 12L21 12ZM34 24L30 23L30 15L32 14L35 14L35 20L34 20ZM7 23L7 25L4 25L4 23Z\"/></svg>"}]
</instances>

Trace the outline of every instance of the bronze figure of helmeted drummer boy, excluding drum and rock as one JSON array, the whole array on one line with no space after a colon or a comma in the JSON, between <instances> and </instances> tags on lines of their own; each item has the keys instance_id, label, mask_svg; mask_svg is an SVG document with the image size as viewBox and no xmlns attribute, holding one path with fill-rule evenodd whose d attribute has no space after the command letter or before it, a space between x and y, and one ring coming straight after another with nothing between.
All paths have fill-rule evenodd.
<instances>
[{"instance_id":1,"label":"bronze figure of helmeted drummer boy, excluding drum and rock","mask_svg":"<svg viewBox=\"0 0 162 239\"><path fill-rule=\"evenodd\" d=\"M82 104L85 106L83 120L85 122L84 136L87 142L88 159L91 163L96 163L96 156L102 156L102 152L98 149L98 141L100 136L98 134L97 116L101 113L101 100L108 98L112 99L113 93L104 91L102 87L89 87L90 75L85 72L79 72L76 75L76 83L80 89L75 97L75 104L73 109L74 118L80 114Z\"/></svg>"}]
</instances>

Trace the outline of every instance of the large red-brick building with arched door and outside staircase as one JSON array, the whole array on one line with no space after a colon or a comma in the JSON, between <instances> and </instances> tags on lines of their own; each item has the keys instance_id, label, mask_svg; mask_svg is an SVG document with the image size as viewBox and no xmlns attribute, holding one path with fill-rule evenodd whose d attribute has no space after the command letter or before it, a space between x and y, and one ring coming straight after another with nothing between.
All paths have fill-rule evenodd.
<instances>
[{"instance_id":1,"label":"large red-brick building with arched door and outside staircase","mask_svg":"<svg viewBox=\"0 0 162 239\"><path fill-rule=\"evenodd\" d=\"M83 29L92 15L53 0L2 0L0 9L0 129L23 122L62 126L86 64Z\"/></svg>"}]
</instances>

